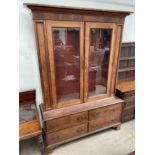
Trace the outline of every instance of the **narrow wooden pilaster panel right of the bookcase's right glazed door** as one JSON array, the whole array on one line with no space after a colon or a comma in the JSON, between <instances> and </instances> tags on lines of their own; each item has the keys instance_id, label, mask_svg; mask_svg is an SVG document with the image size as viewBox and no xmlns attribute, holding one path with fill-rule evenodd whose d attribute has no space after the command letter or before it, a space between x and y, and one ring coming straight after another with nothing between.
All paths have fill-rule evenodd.
<instances>
[{"instance_id":1,"label":"narrow wooden pilaster panel right of the bookcase's right glazed door","mask_svg":"<svg viewBox=\"0 0 155 155\"><path fill-rule=\"evenodd\" d=\"M111 95L115 93L120 47L121 47L121 41L122 41L122 30L123 30L123 25L118 25L117 32L116 32L115 54L114 54L114 59L113 59Z\"/></svg>"}]
</instances>

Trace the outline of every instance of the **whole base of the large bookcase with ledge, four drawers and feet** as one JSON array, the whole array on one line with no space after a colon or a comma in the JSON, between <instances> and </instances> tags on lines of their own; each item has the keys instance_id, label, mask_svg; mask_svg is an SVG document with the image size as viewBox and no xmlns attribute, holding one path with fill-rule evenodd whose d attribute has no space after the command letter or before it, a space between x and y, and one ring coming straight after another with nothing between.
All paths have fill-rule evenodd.
<instances>
[{"instance_id":1,"label":"whole base of the large bookcase with ledge, four drawers and feet","mask_svg":"<svg viewBox=\"0 0 155 155\"><path fill-rule=\"evenodd\" d=\"M104 100L97 103L97 105L87 103L85 107L83 104L74 106L74 109L69 107L61 108L58 111L53 110L54 114L52 115L44 112L45 141L48 152L65 142L88 136L110 127L119 128L122 104L123 100L110 98L109 101ZM64 110L68 110L68 112L66 111L63 114ZM72 112L74 114L71 114Z\"/></svg>"}]
</instances>

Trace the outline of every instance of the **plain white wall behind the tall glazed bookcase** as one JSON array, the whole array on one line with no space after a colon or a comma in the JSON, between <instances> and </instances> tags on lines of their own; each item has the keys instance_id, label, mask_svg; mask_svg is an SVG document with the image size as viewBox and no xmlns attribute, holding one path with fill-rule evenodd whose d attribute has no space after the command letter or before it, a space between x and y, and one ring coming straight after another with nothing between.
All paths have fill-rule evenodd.
<instances>
[{"instance_id":1,"label":"plain white wall behind the tall glazed bookcase","mask_svg":"<svg viewBox=\"0 0 155 155\"><path fill-rule=\"evenodd\" d=\"M130 2L129 2L130 1ZM20 0L19 6L19 90L36 89L37 103L42 103L42 93L40 85L39 67L37 51L32 23L32 16L23 3L42 3L60 6L73 6L85 8L97 8L103 10L134 11L134 2L131 0ZM119 3L120 2L120 3ZM134 15L130 15L125 20L123 42L135 41Z\"/></svg>"}]
</instances>

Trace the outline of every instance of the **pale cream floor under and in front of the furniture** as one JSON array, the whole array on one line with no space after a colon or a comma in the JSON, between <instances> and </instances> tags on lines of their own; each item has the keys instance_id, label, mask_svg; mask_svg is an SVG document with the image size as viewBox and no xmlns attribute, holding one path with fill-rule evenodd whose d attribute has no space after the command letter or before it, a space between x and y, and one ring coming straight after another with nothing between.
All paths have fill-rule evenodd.
<instances>
[{"instance_id":1,"label":"pale cream floor under and in front of the furniture","mask_svg":"<svg viewBox=\"0 0 155 155\"><path fill-rule=\"evenodd\" d=\"M64 144L52 155L128 155L135 150L134 128L135 121L129 121L118 131L110 129ZM21 142L20 155L40 155L37 141Z\"/></svg>"}]
</instances>

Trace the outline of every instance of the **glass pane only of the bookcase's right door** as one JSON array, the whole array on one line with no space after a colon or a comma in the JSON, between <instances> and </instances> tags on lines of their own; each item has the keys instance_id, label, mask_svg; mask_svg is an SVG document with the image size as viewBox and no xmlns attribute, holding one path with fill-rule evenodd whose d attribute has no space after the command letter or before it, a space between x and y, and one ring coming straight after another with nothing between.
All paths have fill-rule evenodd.
<instances>
[{"instance_id":1,"label":"glass pane only of the bookcase's right door","mask_svg":"<svg viewBox=\"0 0 155 155\"><path fill-rule=\"evenodd\" d=\"M111 29L90 29L88 96L107 91L111 36Z\"/></svg>"}]
</instances>

